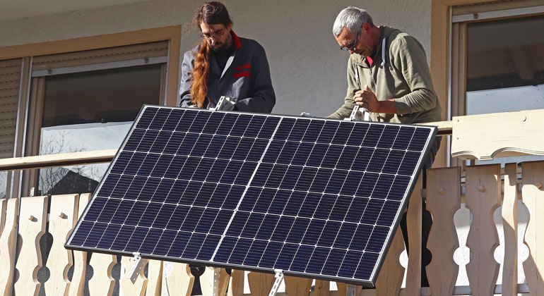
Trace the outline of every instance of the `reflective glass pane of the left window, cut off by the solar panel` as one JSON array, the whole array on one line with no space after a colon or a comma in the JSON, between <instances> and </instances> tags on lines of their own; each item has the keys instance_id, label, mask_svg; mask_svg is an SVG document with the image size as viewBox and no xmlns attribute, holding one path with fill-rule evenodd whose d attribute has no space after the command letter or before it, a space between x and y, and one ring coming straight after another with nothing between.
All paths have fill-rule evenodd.
<instances>
[{"instance_id":1,"label":"reflective glass pane of the left window, cut off by the solar panel","mask_svg":"<svg viewBox=\"0 0 544 296\"><path fill-rule=\"evenodd\" d=\"M143 104L160 104L162 65L45 78L40 155L117 149ZM42 168L42 195L93 192L109 164Z\"/></svg>"}]
</instances>

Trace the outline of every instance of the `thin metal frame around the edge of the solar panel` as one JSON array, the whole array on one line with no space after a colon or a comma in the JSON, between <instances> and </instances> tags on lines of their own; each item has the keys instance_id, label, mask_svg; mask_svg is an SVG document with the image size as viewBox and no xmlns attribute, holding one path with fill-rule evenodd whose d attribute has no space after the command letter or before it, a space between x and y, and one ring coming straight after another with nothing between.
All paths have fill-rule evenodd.
<instances>
[{"instance_id":1,"label":"thin metal frame around the edge of the solar panel","mask_svg":"<svg viewBox=\"0 0 544 296\"><path fill-rule=\"evenodd\" d=\"M136 117L136 120L134 121L133 125L131 126L129 132L124 137L124 140L122 141L122 144L121 144L119 150L115 154L114 159L112 160L112 162L108 166L105 175L102 176L102 179L100 180L100 184L98 185L95 192L93 193L92 199L87 204L87 206L85 206L85 210L83 211L83 214L80 215L80 217L83 217L83 216L85 216L85 214L87 214L93 200L95 199L95 197L97 195L97 192L100 192L100 188L102 187L106 176L109 175L110 171L112 170L112 166L114 165L115 161L117 161L117 159L119 158L119 155L122 152L121 148L124 147L127 140L129 140L129 137L131 136L132 132L134 132L134 129L135 129L136 125L138 124L138 121L140 120L142 114L144 113L144 111L147 108L185 109L185 110L196 111L193 108L178 108L178 107L170 107L170 106L144 105L142 107L140 113L138 113L138 116ZM198 111L206 111L206 110L198 109ZM294 118L294 119L304 118L304 119L309 119L309 120L340 121L340 122L343 122L341 119L333 119L333 118L305 118L305 117L301 117L301 116L268 115L268 114L262 114L262 113L247 113L247 112L238 112L238 111L228 111L228 112L226 112L226 111L213 111L213 112L237 113L237 114L256 115L256 116L273 116L273 117L278 117L280 119L281 118ZM276 125L276 129L278 128L280 123L281 123L281 121L278 122L278 125ZM372 124L377 124L377 125L398 125L398 126L410 126L410 127L413 127L413 125L406 125L406 124L399 124L399 123L377 123L377 122L372 122ZM283 273L286 276L299 276L299 277L303 277L303 278L316 278L316 279L321 279L321 280L333 280L333 281L338 281L338 282L343 282L343 283L350 283L350 284L354 284L354 285L363 285L363 286L366 286L366 287L373 287L374 286L374 283L375 283L375 281L377 279L377 276L379 274L379 270L382 267L383 261L384 261L384 259L386 257L386 254L387 254L387 251L389 250L391 242L392 242L392 240L394 238L396 229L398 228L398 225L399 225L399 223L401 221L401 216L402 216L403 212L406 210L406 206L408 205L408 199L410 197L410 194L413 191L413 188L415 186L416 181L418 180L418 177L419 177L419 174L420 174L420 171L421 171L421 168L422 168L423 161L427 158L428 154L430 153L430 146L432 145L432 142L434 141L434 137L437 135L437 128L434 127L434 126L417 125L417 128L429 128L430 129L430 134L429 134L429 136L427 138L427 141L425 143L425 147L423 147L423 149L422 149L422 157L419 159L417 166L415 166L415 171L414 171L414 174L413 174L413 178L410 178L410 182L408 184L407 190L404 192L404 196L401 199L401 205L399 206L398 211L396 213L396 216L394 218L394 221L391 224L391 229L389 230L389 234L386 236L384 245L382 247L382 251L379 252L379 257L377 259L377 263L374 266L374 269L372 270L372 274L371 274L369 280L356 280L354 278L343 278L343 277L339 277L339 276L326 276L326 275L318 275L318 274L314 274L314 273L304 273L304 272L295 272L295 271L285 270L285 271L283 271ZM268 142L270 143L272 140L273 140L273 136L270 139L268 139ZM265 153L266 153L266 151L264 152L264 154ZM259 163L260 163L260 161L259 161ZM259 168L259 166L257 166L254 171L256 171L258 168ZM251 183L251 180L249 181L249 183ZM247 184L247 187L249 187L249 183ZM238 204L239 206L240 206L243 198L244 197L242 197L240 199L240 202ZM235 209L234 213L232 214L232 216L230 218L230 221L232 221L232 218L234 218L236 212L237 212L237 209ZM66 243L64 245L64 247L66 247L66 249L90 251L90 252L101 252L101 253L105 253L105 254L119 254L119 255L129 256L129 257L134 255L132 252L122 252L122 251L119 252L119 251L112 251L111 249L101 249L101 248L96 248L96 247L95 248L89 248L89 247L80 247L80 246L76 246L76 245L70 245L70 242L71 242L71 240L73 238L73 235L76 233L76 230L78 230L79 226L81 226L82 221L83 221L83 218L78 219L78 222L76 223L76 226L73 228L73 231L72 231L71 235L69 236L68 240L66 240ZM216 251L217 251L217 249L219 249L220 243L223 241L223 238L225 238L225 234L227 233L228 229L229 228L225 228L225 231L224 231L223 235L221 235L222 240L215 247ZM178 257L166 257L166 256L153 255L153 254L141 254L141 257L145 258L145 259L176 261L176 262L187 263L187 264L215 266L215 267L222 267L222 268L227 268L227 269L243 269L243 270L247 270L247 271L275 273L274 269L267 269L267 268L260 268L260 267L255 267L255 266L239 265L239 264L222 264L222 263L218 263L216 261L203 261L203 260L197 260L197 259L188 260L188 259L182 259L182 258L178 258Z\"/></svg>"}]
</instances>

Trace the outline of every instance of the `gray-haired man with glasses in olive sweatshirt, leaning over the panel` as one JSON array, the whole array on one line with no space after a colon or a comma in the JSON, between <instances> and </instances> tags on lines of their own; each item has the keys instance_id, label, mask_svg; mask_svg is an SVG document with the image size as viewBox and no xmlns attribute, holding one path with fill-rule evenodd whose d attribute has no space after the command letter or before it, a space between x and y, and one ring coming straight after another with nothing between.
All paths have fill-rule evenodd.
<instances>
[{"instance_id":1,"label":"gray-haired man with glasses in olive sweatshirt, leaning over the panel","mask_svg":"<svg viewBox=\"0 0 544 296\"><path fill-rule=\"evenodd\" d=\"M425 50L417 39L393 27L377 27L367 11L353 6L338 14L333 35L341 49L350 52L350 58L345 103L329 118L347 118L357 104L369 111L372 121L411 124L441 120ZM424 186L425 168L432 166L439 147L437 137L423 164ZM431 254L425 246L432 218L425 204L423 210L422 285L428 286L424 266L430 263ZM401 229L408 242L406 216Z\"/></svg>"}]
</instances>

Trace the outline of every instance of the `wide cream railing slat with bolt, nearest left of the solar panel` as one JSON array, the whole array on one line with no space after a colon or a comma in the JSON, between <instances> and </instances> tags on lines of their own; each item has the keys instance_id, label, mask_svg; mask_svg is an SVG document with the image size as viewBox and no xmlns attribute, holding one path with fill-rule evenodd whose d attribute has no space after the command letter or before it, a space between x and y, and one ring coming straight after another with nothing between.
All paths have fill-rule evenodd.
<instances>
[{"instance_id":1,"label":"wide cream railing slat with bolt, nearest left of the solar panel","mask_svg":"<svg viewBox=\"0 0 544 296\"><path fill-rule=\"evenodd\" d=\"M53 245L47 259L49 279L44 283L47 295L68 295L70 281L68 270L73 265L72 252L64 248L73 226L77 222L78 195L54 195L49 210L49 233Z\"/></svg>"}]
</instances>

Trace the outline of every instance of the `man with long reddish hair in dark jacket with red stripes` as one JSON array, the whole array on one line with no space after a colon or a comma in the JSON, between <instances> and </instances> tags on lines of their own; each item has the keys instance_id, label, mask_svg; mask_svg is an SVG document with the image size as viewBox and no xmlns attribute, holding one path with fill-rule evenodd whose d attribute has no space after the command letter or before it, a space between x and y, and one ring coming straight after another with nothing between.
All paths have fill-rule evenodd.
<instances>
[{"instance_id":1,"label":"man with long reddish hair in dark jacket with red stripes","mask_svg":"<svg viewBox=\"0 0 544 296\"><path fill-rule=\"evenodd\" d=\"M261 44L238 37L220 2L206 2L194 16L202 41L183 56L179 106L212 108L230 98L232 110L271 113L276 104Z\"/></svg>"}]
</instances>

